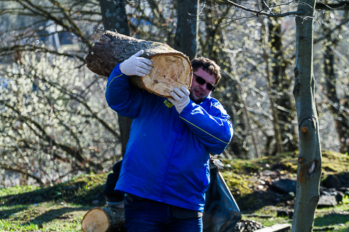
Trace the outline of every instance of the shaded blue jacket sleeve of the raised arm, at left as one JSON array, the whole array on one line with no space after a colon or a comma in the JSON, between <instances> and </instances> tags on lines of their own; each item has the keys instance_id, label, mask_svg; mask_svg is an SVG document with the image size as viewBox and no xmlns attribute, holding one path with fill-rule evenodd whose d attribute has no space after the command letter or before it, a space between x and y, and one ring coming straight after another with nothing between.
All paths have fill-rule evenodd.
<instances>
[{"instance_id":1,"label":"shaded blue jacket sleeve of the raised arm, at left","mask_svg":"<svg viewBox=\"0 0 349 232\"><path fill-rule=\"evenodd\" d=\"M130 85L128 76L120 71L119 65L108 77L105 99L109 107L121 116L136 118L142 104L142 92Z\"/></svg>"}]
</instances>

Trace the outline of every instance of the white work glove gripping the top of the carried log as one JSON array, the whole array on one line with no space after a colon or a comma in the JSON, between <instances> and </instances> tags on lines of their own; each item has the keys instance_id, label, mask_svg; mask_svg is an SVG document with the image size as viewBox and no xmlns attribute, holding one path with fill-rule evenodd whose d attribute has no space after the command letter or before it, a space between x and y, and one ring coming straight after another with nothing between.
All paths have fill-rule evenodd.
<instances>
[{"instance_id":1,"label":"white work glove gripping the top of the carried log","mask_svg":"<svg viewBox=\"0 0 349 232\"><path fill-rule=\"evenodd\" d=\"M122 62L120 65L120 71L128 76L135 75L144 77L149 74L149 71L151 70L151 61L143 57L138 57L142 54L143 50L140 50L140 52L137 52L126 61Z\"/></svg>"}]
</instances>

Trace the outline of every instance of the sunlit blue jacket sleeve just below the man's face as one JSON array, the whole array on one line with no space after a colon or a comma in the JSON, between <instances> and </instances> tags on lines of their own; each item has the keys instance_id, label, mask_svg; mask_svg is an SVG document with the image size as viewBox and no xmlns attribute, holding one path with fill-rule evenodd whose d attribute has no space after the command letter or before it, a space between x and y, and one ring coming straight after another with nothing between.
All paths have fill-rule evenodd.
<instances>
[{"instance_id":1,"label":"sunlit blue jacket sleeve just below the man's face","mask_svg":"<svg viewBox=\"0 0 349 232\"><path fill-rule=\"evenodd\" d=\"M232 123L221 103L211 101L209 109L190 101L179 115L209 153L221 154L232 139Z\"/></svg>"}]
</instances>

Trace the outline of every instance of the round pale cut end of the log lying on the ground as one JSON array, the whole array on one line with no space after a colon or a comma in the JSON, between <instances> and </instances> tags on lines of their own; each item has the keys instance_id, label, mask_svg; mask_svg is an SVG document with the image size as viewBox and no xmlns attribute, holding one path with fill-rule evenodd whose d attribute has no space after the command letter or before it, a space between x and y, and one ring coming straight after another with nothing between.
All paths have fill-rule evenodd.
<instances>
[{"instance_id":1,"label":"round pale cut end of the log lying on the ground","mask_svg":"<svg viewBox=\"0 0 349 232\"><path fill-rule=\"evenodd\" d=\"M101 208L89 210L81 222L84 232L105 232L109 228L109 219Z\"/></svg>"}]
</instances>

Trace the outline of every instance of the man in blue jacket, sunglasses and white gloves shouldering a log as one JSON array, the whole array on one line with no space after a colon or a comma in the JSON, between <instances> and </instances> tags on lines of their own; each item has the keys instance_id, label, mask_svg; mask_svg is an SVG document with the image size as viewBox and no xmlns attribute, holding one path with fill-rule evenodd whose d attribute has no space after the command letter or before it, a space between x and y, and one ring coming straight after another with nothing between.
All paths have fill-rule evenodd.
<instances>
[{"instance_id":1,"label":"man in blue jacket, sunglasses and white gloves shouldering a log","mask_svg":"<svg viewBox=\"0 0 349 232\"><path fill-rule=\"evenodd\" d=\"M142 53L114 68L105 92L114 111L133 118L115 187L125 194L126 229L202 231L209 153L221 154L233 134L230 116L210 96L220 68L209 59L193 59L190 90L181 86L172 98L162 98L129 82L151 70Z\"/></svg>"}]
</instances>

